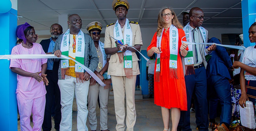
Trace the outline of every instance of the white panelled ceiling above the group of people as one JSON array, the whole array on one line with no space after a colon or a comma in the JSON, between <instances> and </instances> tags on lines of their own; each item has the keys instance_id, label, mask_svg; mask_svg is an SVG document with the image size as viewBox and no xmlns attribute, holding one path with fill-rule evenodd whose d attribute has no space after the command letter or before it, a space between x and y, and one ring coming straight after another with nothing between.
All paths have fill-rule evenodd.
<instances>
[{"instance_id":1,"label":"white panelled ceiling above the group of people","mask_svg":"<svg viewBox=\"0 0 256 131\"><path fill-rule=\"evenodd\" d=\"M157 15L162 6L171 6L180 22L181 12L200 7L204 11L205 28L242 28L241 0L128 0L127 18L140 27L157 27ZM49 30L58 23L60 14L79 14L83 29L92 21L106 27L116 21L112 0L18 0L18 24L28 22L36 30Z\"/></svg>"}]
</instances>

